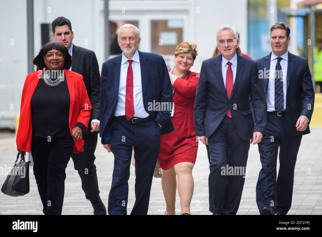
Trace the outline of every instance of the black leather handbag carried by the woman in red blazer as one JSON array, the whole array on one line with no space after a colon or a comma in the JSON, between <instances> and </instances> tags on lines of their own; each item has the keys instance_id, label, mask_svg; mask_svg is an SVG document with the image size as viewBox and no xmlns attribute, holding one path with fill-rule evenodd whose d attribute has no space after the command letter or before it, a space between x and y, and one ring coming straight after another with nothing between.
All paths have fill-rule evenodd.
<instances>
[{"instance_id":1,"label":"black leather handbag carried by the woman in red blazer","mask_svg":"<svg viewBox=\"0 0 322 237\"><path fill-rule=\"evenodd\" d=\"M24 159L24 153L22 152L19 163L19 153L17 155L16 162L12 167L12 170L7 175L5 183L3 183L1 192L13 196L24 196L26 193L29 193L29 163Z\"/></svg>"}]
</instances>

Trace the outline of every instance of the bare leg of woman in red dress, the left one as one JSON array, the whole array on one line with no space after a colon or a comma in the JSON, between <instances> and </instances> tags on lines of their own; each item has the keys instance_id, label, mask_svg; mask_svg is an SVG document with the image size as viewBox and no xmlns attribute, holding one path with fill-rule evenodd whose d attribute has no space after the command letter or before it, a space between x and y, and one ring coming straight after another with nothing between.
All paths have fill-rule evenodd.
<instances>
[{"instance_id":1,"label":"bare leg of woman in red dress, the left one","mask_svg":"<svg viewBox=\"0 0 322 237\"><path fill-rule=\"evenodd\" d=\"M174 167L162 170L161 186L164 199L166 201L166 215L175 215L175 193L177 189L177 181Z\"/></svg>"}]
</instances>

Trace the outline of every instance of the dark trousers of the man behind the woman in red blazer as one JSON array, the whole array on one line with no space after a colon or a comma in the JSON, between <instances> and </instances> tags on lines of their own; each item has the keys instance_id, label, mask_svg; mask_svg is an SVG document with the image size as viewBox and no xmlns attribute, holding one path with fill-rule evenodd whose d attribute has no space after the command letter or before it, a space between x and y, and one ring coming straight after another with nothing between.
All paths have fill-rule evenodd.
<instances>
[{"instance_id":1,"label":"dark trousers of the man behind the woman in red blazer","mask_svg":"<svg viewBox=\"0 0 322 237\"><path fill-rule=\"evenodd\" d=\"M96 202L99 199L99 184L95 162L95 149L97 146L98 132L83 133L84 152L73 153L71 158L74 168L81 177L81 188L85 193L86 199Z\"/></svg>"}]
</instances>

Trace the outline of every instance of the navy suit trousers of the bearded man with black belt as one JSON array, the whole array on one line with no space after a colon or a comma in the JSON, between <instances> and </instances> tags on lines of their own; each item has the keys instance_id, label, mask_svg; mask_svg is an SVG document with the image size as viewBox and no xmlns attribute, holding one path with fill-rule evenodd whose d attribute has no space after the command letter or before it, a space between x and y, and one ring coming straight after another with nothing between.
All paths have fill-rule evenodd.
<instances>
[{"instance_id":1,"label":"navy suit trousers of the bearded man with black belt","mask_svg":"<svg viewBox=\"0 0 322 237\"><path fill-rule=\"evenodd\" d=\"M111 150L114 154L112 185L109 191L109 215L127 214L128 179L132 147L135 158L135 203L131 214L146 215L157 156L161 128L154 120L132 123L125 116L114 117L110 123Z\"/></svg>"}]
</instances>

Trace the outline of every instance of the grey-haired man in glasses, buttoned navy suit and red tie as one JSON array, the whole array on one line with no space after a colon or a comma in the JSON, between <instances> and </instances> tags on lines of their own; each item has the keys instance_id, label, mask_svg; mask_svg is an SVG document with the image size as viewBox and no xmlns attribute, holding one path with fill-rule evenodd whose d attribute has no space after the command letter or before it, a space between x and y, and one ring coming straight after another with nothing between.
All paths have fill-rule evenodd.
<instances>
[{"instance_id":1,"label":"grey-haired man in glasses, buttoned navy suit and red tie","mask_svg":"<svg viewBox=\"0 0 322 237\"><path fill-rule=\"evenodd\" d=\"M201 66L194 126L210 150L209 210L234 215L242 197L250 141L259 143L265 135L267 109L257 63L236 54L238 31L229 25L219 27L217 44L220 54Z\"/></svg>"}]
</instances>

